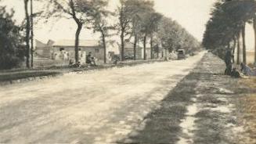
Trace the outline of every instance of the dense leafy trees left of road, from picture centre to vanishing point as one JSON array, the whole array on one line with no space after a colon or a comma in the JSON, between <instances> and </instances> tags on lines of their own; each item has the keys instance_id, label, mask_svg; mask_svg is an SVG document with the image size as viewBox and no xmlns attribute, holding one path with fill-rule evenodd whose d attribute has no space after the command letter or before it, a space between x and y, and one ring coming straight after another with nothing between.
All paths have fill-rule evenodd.
<instances>
[{"instance_id":1,"label":"dense leafy trees left of road, from picture centre to vanishing point","mask_svg":"<svg viewBox=\"0 0 256 144\"><path fill-rule=\"evenodd\" d=\"M175 20L157 13L154 3L146 0L121 0L121 6L117 9L120 22L117 24L121 38L121 59L124 60L125 36L132 38L134 45L134 59L138 42L143 43L143 56L146 58L146 44L150 41L150 57L159 53L159 47L171 52L177 49L186 49L193 52L200 49L200 43L189 34Z\"/></svg>"}]
</instances>

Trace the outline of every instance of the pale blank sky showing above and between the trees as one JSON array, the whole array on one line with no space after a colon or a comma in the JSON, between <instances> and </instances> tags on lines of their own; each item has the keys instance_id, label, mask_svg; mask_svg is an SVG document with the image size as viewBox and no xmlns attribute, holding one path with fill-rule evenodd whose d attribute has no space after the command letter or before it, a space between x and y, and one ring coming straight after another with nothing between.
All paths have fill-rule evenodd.
<instances>
[{"instance_id":1,"label":"pale blank sky showing above and between the trees","mask_svg":"<svg viewBox=\"0 0 256 144\"><path fill-rule=\"evenodd\" d=\"M110 0L110 8L115 9L119 0ZM199 41L202 40L205 24L209 20L211 7L216 0L154 0L155 9L164 16L177 20L185 27L190 34L193 34ZM13 7L16 11L17 21L23 20L23 0L5 0L9 8ZM1 4L2 5L2 4ZM38 9L34 5L34 9ZM41 41L48 39L74 39L76 25L73 20L59 20L52 23L39 23L35 28L35 37ZM247 27L247 43L253 44L251 37L251 27ZM98 34L83 30L81 39L98 39ZM249 46L250 47L250 46Z\"/></svg>"}]
</instances>

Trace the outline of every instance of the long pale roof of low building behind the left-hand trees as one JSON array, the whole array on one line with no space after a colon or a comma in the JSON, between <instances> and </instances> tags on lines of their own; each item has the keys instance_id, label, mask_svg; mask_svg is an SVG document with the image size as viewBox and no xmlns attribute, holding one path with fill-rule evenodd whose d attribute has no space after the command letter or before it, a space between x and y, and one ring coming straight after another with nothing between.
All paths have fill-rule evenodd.
<instances>
[{"instance_id":1,"label":"long pale roof of low building behind the left-hand trees","mask_svg":"<svg viewBox=\"0 0 256 144\"><path fill-rule=\"evenodd\" d=\"M99 41L96 40L79 40L79 46L81 47L96 47L99 45ZM53 46L74 46L74 40L59 40L54 42Z\"/></svg>"}]
</instances>

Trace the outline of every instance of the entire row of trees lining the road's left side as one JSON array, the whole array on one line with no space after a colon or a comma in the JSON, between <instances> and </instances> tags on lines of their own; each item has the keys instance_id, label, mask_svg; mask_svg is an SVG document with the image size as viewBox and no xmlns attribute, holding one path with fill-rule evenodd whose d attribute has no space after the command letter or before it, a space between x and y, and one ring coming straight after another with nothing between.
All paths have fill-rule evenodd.
<instances>
[{"instance_id":1,"label":"entire row of trees lining the road's left side","mask_svg":"<svg viewBox=\"0 0 256 144\"><path fill-rule=\"evenodd\" d=\"M33 13L33 2L44 4L43 9ZM143 43L144 59L146 59L146 44L150 43L151 58L154 52L159 52L162 45L169 51L187 49L189 52L200 47L196 38L182 28L175 20L164 17L154 9L150 0L120 0L120 5L114 12L108 10L109 0L23 0L25 19L23 23L23 40L26 44L25 54L27 67L33 67L33 27L34 18L47 22L49 19L74 20L77 25L74 36L75 61L78 63L79 38L83 29L99 32L104 47L104 62L106 63L106 38L117 34L120 37L121 60L124 60L124 45L127 41L134 44L134 59L139 47ZM111 23L110 18L116 19ZM115 31L113 33L113 31Z\"/></svg>"}]
</instances>

